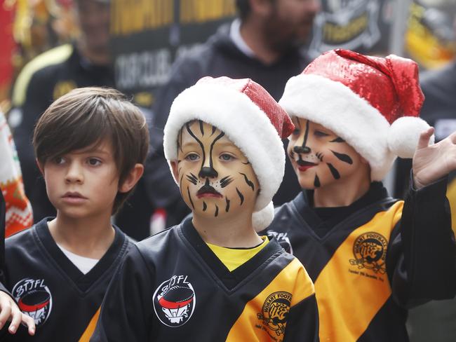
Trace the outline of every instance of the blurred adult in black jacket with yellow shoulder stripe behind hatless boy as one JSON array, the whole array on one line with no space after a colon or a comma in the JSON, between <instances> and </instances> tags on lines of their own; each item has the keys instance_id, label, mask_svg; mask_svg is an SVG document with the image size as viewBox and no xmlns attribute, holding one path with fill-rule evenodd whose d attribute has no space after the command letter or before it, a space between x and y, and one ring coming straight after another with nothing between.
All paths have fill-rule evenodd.
<instances>
[{"instance_id":1,"label":"blurred adult in black jacket with yellow shoulder stripe behind hatless boy","mask_svg":"<svg viewBox=\"0 0 456 342\"><path fill-rule=\"evenodd\" d=\"M13 86L8 121L34 221L55 216L35 163L32 132L36 120L58 97L74 88L114 86L109 54L109 0L75 0L81 34L74 43L53 48L25 65Z\"/></svg>"}]
</instances>

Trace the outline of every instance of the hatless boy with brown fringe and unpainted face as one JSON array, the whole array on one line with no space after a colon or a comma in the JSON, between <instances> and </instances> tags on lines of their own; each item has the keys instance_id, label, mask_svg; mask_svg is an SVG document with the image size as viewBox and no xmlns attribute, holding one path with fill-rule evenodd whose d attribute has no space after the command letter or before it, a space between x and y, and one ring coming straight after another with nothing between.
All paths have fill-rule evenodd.
<instances>
[{"instance_id":1,"label":"hatless boy with brown fringe and unpainted face","mask_svg":"<svg viewBox=\"0 0 456 342\"><path fill-rule=\"evenodd\" d=\"M72 90L36 123L36 160L57 217L6 240L6 287L34 317L33 341L88 341L132 245L111 216L141 177L148 142L140 110L112 89ZM7 337L29 338L22 328Z\"/></svg>"}]
</instances>

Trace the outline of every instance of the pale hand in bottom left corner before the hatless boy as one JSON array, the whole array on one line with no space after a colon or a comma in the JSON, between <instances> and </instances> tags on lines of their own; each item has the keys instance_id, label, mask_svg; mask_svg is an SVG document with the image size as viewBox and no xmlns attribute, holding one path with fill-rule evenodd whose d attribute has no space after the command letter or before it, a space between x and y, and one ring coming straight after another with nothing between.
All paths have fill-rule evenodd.
<instances>
[{"instance_id":1,"label":"pale hand in bottom left corner before the hatless boy","mask_svg":"<svg viewBox=\"0 0 456 342\"><path fill-rule=\"evenodd\" d=\"M11 320L8 327L10 334L15 334L18 331L19 324L23 323L29 328L29 335L35 334L35 321L29 315L22 313L20 308L16 305L15 301L6 294L0 291L0 329L4 324Z\"/></svg>"}]
</instances>

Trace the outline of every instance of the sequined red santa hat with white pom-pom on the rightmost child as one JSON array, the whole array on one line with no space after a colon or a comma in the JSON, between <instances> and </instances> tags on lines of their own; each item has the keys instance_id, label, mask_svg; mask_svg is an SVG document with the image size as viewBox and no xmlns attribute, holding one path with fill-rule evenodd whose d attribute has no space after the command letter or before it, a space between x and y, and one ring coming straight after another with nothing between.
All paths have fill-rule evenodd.
<instances>
[{"instance_id":1,"label":"sequined red santa hat with white pom-pom on the rightmost child","mask_svg":"<svg viewBox=\"0 0 456 342\"><path fill-rule=\"evenodd\" d=\"M339 135L366 158L380 181L396 156L412 158L424 101L413 60L330 50L288 80L279 104L290 116L307 118ZM432 138L434 139L434 137Z\"/></svg>"}]
</instances>

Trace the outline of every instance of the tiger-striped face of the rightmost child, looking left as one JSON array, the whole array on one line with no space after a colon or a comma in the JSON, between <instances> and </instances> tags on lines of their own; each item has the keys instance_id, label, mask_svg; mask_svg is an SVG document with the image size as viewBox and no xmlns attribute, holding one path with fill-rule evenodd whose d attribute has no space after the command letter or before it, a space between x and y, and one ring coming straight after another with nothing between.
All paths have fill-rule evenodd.
<instances>
[{"instance_id":1,"label":"tiger-striped face of the rightmost child, looking left","mask_svg":"<svg viewBox=\"0 0 456 342\"><path fill-rule=\"evenodd\" d=\"M295 130L288 144L288 157L303 189L318 189L345 180L359 167L368 167L363 158L328 128L293 116Z\"/></svg>"}]
</instances>

